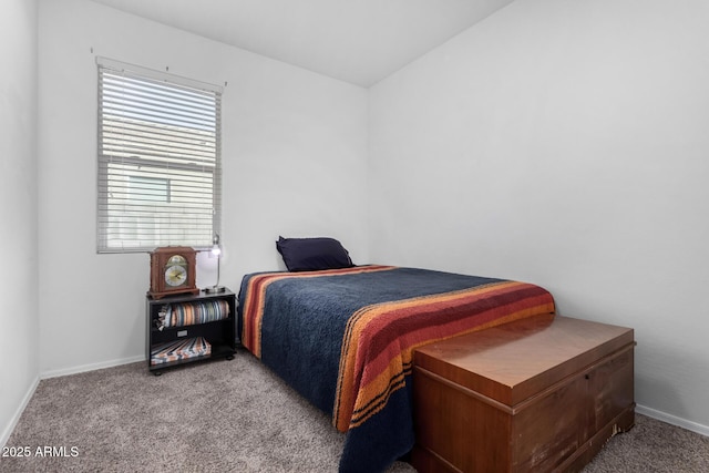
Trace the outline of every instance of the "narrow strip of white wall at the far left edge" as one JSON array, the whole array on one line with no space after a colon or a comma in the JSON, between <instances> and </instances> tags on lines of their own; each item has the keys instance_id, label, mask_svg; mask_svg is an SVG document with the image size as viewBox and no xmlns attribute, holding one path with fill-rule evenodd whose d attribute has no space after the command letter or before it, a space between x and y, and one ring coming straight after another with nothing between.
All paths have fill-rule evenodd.
<instances>
[{"instance_id":1,"label":"narrow strip of white wall at the far left edge","mask_svg":"<svg viewBox=\"0 0 709 473\"><path fill-rule=\"evenodd\" d=\"M0 445L39 381L37 304L37 1L0 14Z\"/></svg>"}]
</instances>

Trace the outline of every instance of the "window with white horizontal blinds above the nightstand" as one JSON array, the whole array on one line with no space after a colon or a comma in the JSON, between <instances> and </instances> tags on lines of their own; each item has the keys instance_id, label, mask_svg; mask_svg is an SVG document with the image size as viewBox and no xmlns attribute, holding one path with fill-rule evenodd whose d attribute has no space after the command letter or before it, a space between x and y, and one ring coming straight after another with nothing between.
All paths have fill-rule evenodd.
<instances>
[{"instance_id":1,"label":"window with white horizontal blinds above the nightstand","mask_svg":"<svg viewBox=\"0 0 709 473\"><path fill-rule=\"evenodd\" d=\"M220 224L222 88L99 64L99 253L209 247Z\"/></svg>"}]
</instances>

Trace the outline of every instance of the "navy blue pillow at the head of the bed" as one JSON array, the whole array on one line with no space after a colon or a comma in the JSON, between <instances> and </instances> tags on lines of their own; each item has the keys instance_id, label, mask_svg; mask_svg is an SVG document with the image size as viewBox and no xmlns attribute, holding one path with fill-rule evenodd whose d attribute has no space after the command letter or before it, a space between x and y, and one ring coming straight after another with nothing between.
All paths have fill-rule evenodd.
<instances>
[{"instance_id":1,"label":"navy blue pillow at the head of the bed","mask_svg":"<svg viewBox=\"0 0 709 473\"><path fill-rule=\"evenodd\" d=\"M289 271L316 271L354 266L347 249L335 238L278 237L276 248Z\"/></svg>"}]
</instances>

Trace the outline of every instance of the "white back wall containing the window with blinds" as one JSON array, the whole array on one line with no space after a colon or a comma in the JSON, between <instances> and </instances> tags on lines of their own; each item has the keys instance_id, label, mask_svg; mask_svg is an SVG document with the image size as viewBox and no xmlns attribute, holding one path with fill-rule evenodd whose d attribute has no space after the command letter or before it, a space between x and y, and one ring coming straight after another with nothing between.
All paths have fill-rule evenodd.
<instances>
[{"instance_id":1,"label":"white back wall containing the window with blinds","mask_svg":"<svg viewBox=\"0 0 709 473\"><path fill-rule=\"evenodd\" d=\"M222 284L277 269L284 236L340 238L367 260L367 91L85 0L42 0L39 343L42 376L145 357L148 255L96 255L95 55L223 95ZM213 285L214 260L197 284Z\"/></svg>"}]
</instances>

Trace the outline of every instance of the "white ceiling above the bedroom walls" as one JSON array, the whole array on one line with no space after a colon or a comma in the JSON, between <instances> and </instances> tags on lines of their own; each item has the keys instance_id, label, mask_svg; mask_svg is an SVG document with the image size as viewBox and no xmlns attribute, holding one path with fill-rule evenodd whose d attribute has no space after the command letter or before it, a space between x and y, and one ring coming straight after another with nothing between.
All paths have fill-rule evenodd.
<instances>
[{"instance_id":1,"label":"white ceiling above the bedroom walls","mask_svg":"<svg viewBox=\"0 0 709 473\"><path fill-rule=\"evenodd\" d=\"M368 88L513 0L93 0Z\"/></svg>"}]
</instances>

